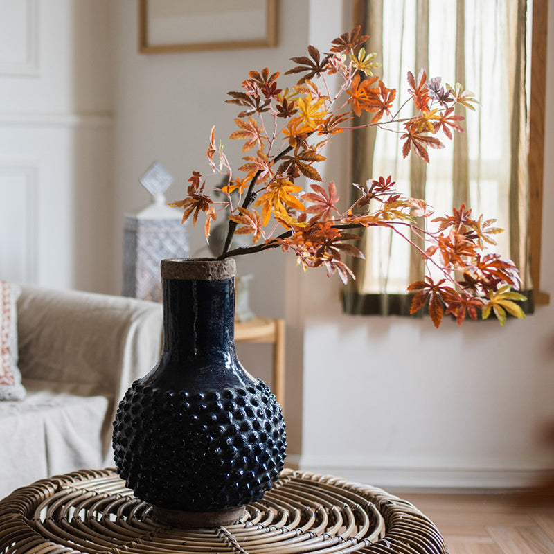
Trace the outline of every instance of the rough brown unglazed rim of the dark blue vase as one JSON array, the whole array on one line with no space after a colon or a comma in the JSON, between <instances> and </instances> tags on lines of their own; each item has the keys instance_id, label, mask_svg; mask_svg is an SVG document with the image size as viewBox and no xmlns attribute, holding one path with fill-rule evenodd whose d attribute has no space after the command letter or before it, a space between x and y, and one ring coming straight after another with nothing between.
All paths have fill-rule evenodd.
<instances>
[{"instance_id":1,"label":"rough brown unglazed rim of the dark blue vase","mask_svg":"<svg viewBox=\"0 0 554 554\"><path fill-rule=\"evenodd\" d=\"M161 260L161 278L181 280L222 280L236 276L233 258L170 258Z\"/></svg>"}]
</instances>

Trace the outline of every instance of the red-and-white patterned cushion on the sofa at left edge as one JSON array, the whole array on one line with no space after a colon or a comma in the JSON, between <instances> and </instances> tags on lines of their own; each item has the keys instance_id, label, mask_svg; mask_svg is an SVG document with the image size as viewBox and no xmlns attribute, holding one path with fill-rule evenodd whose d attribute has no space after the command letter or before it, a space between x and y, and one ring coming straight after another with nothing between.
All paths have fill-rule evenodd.
<instances>
[{"instance_id":1,"label":"red-and-white patterned cushion on the sofa at left edge","mask_svg":"<svg viewBox=\"0 0 554 554\"><path fill-rule=\"evenodd\" d=\"M0 400L21 400L25 388L17 367L18 285L0 280Z\"/></svg>"}]
</instances>

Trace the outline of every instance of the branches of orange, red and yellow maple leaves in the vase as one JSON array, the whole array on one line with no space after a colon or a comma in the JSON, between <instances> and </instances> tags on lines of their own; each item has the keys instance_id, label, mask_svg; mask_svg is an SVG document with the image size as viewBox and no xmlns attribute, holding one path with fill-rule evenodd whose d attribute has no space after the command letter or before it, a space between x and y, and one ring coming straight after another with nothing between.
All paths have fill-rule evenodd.
<instances>
[{"instance_id":1,"label":"branches of orange, red and yellow maple leaves in the vase","mask_svg":"<svg viewBox=\"0 0 554 554\"><path fill-rule=\"evenodd\" d=\"M463 116L454 113L461 105L474 110L473 93L443 85L440 77L428 78L425 69L417 78L407 75L409 101L396 106L396 90L373 75L379 64L375 53L362 46L368 39L357 26L334 39L330 51L321 55L308 46L308 55L293 57L296 65L285 75L300 79L291 88L280 88L279 72L250 71L241 91L231 91L226 100L241 109L230 139L244 141L244 164L235 175L223 146L217 146L215 127L211 130L206 155L213 175L224 186L208 188L197 171L188 179L186 197L172 202L183 208L183 222L205 216L206 238L217 213L229 218L229 231L222 254L217 259L281 248L292 251L298 263L307 267L324 266L328 275L338 274L346 283L354 274L344 256L363 258L355 246L359 234L352 230L381 226L400 235L418 249L427 268L438 268L440 278L425 276L412 283L411 313L428 305L436 327L443 315L453 314L458 324L466 315L483 319L491 312L501 325L506 312L518 318L524 312L515 301L525 297L517 292L521 280L511 260L487 251L494 235L502 229L494 219L472 217L465 205L452 215L434 217L424 199L407 197L395 190L391 176L368 176L364 185L354 184L357 200L346 211L337 208L337 186L326 187L316 164L325 160L323 149L334 134L362 127L400 133L402 156L415 153L429 163L429 149L444 148L444 137L464 132ZM330 92L330 79L338 79L336 93ZM415 109L413 108L415 107ZM354 114L373 114L370 123L359 125ZM411 111L411 116L404 116ZM307 178L309 190L297 184ZM310 182L311 181L311 182ZM224 193L223 198L220 193ZM417 218L417 219L416 219ZM423 221L424 224L416 222ZM251 234L252 245L231 249L235 234ZM424 241L420 247L412 239ZM429 271L426 271L428 274Z\"/></svg>"}]
</instances>

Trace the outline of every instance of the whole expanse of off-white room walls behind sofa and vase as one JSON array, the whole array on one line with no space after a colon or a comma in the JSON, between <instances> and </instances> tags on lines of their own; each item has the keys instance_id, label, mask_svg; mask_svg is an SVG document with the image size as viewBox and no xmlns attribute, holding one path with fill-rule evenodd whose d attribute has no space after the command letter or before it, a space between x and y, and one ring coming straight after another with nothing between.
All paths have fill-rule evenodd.
<instances>
[{"instance_id":1,"label":"whole expanse of off-white room walls behind sofa and vase","mask_svg":"<svg viewBox=\"0 0 554 554\"><path fill-rule=\"evenodd\" d=\"M277 48L139 55L136 0L10 3L25 34L8 37L13 48L0 41L0 278L119 293L123 214L149 201L144 170L163 163L176 178L168 199L182 197L190 172L208 170L214 123L239 160L226 139L237 113L226 91L250 69L286 68L308 42L325 48L350 26L345 6L281 0ZM554 9L549 36L552 97ZM542 288L553 294L547 110ZM347 141L328 155L325 179L347 185ZM202 229L192 242L200 252ZM303 274L280 253L239 260L239 271L255 274L254 310L287 319L292 462L386 486L519 485L552 465L539 434L554 420L554 307L504 329L446 321L435 330L427 320L343 315L338 279ZM269 374L265 346L240 357Z\"/></svg>"}]
</instances>

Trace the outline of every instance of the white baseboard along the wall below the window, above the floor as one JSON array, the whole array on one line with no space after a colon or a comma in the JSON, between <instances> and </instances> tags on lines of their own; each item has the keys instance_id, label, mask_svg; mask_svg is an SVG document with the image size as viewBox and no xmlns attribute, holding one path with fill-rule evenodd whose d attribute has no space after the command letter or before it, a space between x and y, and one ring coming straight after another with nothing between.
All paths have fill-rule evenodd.
<instances>
[{"instance_id":1,"label":"white baseboard along the wall below the window, above the floor","mask_svg":"<svg viewBox=\"0 0 554 554\"><path fill-rule=\"evenodd\" d=\"M425 463L427 462L427 463ZM506 490L527 488L552 472L546 461L384 461L334 456L292 456L291 465L316 474L340 476L393 490Z\"/></svg>"}]
</instances>

